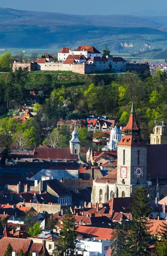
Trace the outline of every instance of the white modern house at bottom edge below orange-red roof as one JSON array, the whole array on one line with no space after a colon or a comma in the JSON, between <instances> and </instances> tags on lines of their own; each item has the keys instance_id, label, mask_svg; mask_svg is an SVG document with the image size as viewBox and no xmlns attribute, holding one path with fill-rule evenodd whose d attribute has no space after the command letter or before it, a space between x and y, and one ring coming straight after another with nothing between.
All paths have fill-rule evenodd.
<instances>
[{"instance_id":1,"label":"white modern house at bottom edge below orange-red roof","mask_svg":"<svg viewBox=\"0 0 167 256\"><path fill-rule=\"evenodd\" d=\"M105 256L109 249L110 241L102 239L80 239L76 244L76 251L83 256Z\"/></svg>"}]
</instances>

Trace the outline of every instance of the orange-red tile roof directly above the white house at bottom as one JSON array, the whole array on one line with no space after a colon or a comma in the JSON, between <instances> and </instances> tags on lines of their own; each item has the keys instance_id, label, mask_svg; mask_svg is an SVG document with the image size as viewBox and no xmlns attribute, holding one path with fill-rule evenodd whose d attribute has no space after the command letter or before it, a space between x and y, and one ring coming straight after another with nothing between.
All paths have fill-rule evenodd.
<instances>
[{"instance_id":1,"label":"orange-red tile roof directly above the white house at bottom","mask_svg":"<svg viewBox=\"0 0 167 256\"><path fill-rule=\"evenodd\" d=\"M95 237L95 239L111 239L111 233L114 231L110 228L101 228L101 227L86 227L78 226L76 229L77 232L84 235L89 235Z\"/></svg>"}]
</instances>

